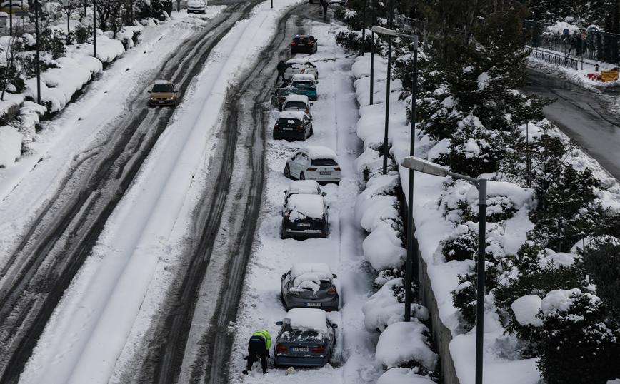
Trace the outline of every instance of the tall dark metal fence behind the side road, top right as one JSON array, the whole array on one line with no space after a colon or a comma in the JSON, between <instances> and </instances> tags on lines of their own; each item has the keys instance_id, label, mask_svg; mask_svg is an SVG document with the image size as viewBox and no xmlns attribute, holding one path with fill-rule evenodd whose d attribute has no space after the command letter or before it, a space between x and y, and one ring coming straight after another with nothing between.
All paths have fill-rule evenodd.
<instances>
[{"instance_id":1,"label":"tall dark metal fence behind the side road, top right","mask_svg":"<svg viewBox=\"0 0 620 384\"><path fill-rule=\"evenodd\" d=\"M547 27L551 24L526 20L524 26L531 32L529 45L532 48L561 52L566 57L579 56L579 59L583 55L586 60L601 63L618 64L620 62L618 56L620 39L617 34L592 31L586 34L586 39L582 41L581 34L550 34Z\"/></svg>"}]
</instances>

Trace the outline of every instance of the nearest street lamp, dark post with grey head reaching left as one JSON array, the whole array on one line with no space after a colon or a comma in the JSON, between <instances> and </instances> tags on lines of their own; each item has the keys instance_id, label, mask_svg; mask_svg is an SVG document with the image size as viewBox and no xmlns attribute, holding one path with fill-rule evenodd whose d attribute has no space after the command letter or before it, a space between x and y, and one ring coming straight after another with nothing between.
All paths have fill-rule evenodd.
<instances>
[{"instance_id":1,"label":"nearest street lamp, dark post with grey head reaching left","mask_svg":"<svg viewBox=\"0 0 620 384\"><path fill-rule=\"evenodd\" d=\"M448 171L430 161L413 156L404 158L402 166L429 175L462 178L474 184L479 192L478 211L478 300L476 302L476 384L482 384L482 345L484 343L484 253L486 251L486 178L471 178Z\"/></svg>"}]
</instances>

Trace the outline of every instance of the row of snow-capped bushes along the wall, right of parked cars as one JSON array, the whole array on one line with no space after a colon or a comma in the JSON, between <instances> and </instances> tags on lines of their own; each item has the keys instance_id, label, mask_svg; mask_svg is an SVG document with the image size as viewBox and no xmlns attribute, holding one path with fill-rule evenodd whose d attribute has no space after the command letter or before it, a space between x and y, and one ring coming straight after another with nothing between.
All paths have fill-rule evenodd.
<instances>
[{"instance_id":1,"label":"row of snow-capped bushes along the wall, right of parked cars","mask_svg":"<svg viewBox=\"0 0 620 384\"><path fill-rule=\"evenodd\" d=\"M375 55L375 79L386 76L386 60ZM433 383L424 375L436 368L437 355L429 347L429 330L422 321L429 320L429 312L422 305L411 305L411 322L404 322L404 303L399 303L396 288L404 289L404 279L389 277L401 269L406 261L406 249L401 234L399 201L396 190L401 188L402 177L394 171L390 160L387 174L383 173L383 157L377 150L383 143L385 113L385 89L375 88L374 105L369 105L369 56L356 59L352 71L356 96L360 104L360 119L357 134L364 141L364 153L355 162L356 171L366 178L366 190L360 193L355 205L355 218L370 234L364 240L364 256L380 276L376 283L383 286L362 307L364 325L369 330L380 330L376 345L376 363L388 369L378 383ZM399 89L401 81L396 79L392 89ZM391 112L389 130L398 132L399 139L409 143L409 128L404 103L397 101L398 93L391 93L390 106L399 106ZM394 150L394 148L392 148ZM404 181L403 181L404 182ZM382 271L387 272L381 275ZM414 366L414 369L409 367Z\"/></svg>"}]
</instances>

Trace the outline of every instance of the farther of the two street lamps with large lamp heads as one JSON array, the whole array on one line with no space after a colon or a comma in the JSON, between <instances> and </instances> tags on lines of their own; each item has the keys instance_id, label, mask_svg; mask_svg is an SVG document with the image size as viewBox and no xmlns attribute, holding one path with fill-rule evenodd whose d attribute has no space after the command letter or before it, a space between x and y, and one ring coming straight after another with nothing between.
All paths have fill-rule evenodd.
<instances>
[{"instance_id":1,"label":"farther of the two street lamps with large lamp heads","mask_svg":"<svg viewBox=\"0 0 620 384\"><path fill-rule=\"evenodd\" d=\"M416 86L418 74L418 36L400 34L393 29L387 29L381 26L373 26L371 31L378 34L389 36L402 36L414 41L414 84L411 91L411 140L409 143L409 156L415 156L416 141ZM384 156L385 153L384 153ZM385 158L385 157L384 157ZM407 261L405 264L405 321L411 321L411 281L412 271L411 263L413 256L411 253L416 250L416 242L414 241L414 170L409 170L409 204L407 204ZM416 251L417 253L417 251Z\"/></svg>"}]
</instances>

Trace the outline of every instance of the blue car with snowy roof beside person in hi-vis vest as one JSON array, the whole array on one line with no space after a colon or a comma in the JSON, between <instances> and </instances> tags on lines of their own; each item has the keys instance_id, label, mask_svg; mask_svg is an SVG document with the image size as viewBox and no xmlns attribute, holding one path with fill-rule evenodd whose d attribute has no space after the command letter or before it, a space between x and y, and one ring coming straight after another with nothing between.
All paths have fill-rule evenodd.
<instances>
[{"instance_id":1,"label":"blue car with snowy roof beside person in hi-vis vest","mask_svg":"<svg viewBox=\"0 0 620 384\"><path fill-rule=\"evenodd\" d=\"M274 365L322 367L336 345L336 328L324 310L293 308L286 313L274 343Z\"/></svg>"}]
</instances>

